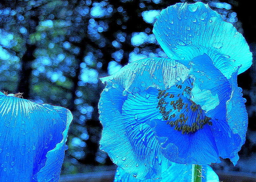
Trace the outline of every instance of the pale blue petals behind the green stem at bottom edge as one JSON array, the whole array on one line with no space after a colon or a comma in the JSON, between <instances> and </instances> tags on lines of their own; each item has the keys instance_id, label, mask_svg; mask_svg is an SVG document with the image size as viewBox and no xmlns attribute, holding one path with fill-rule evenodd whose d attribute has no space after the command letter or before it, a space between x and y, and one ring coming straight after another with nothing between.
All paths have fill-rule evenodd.
<instances>
[{"instance_id":1,"label":"pale blue petals behind the green stem at bottom edge","mask_svg":"<svg viewBox=\"0 0 256 182\"><path fill-rule=\"evenodd\" d=\"M131 174L127 174L122 168L117 168L114 182L191 182L192 165L176 164L168 168L162 174L162 179L138 180ZM202 182L219 182L218 175L208 165L202 166Z\"/></svg>"}]
</instances>

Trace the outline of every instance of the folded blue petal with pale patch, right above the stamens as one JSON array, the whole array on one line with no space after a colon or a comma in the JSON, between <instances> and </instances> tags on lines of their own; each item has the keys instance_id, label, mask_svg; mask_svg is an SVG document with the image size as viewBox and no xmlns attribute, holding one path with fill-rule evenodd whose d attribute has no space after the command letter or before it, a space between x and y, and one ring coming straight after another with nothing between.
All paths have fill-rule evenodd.
<instances>
[{"instance_id":1,"label":"folded blue petal with pale patch, right above the stamens","mask_svg":"<svg viewBox=\"0 0 256 182\"><path fill-rule=\"evenodd\" d=\"M201 105L206 116L226 120L226 102L232 91L229 81L206 54L193 58L190 64L189 75L195 80L191 100Z\"/></svg>"}]
</instances>

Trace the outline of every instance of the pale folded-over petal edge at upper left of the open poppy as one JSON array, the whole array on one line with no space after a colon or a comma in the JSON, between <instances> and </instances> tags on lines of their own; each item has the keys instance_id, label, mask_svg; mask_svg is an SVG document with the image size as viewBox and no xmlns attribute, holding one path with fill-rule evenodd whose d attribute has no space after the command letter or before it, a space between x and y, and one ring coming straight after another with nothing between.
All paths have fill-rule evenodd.
<instances>
[{"instance_id":1,"label":"pale folded-over petal edge at upper left of the open poppy","mask_svg":"<svg viewBox=\"0 0 256 182\"><path fill-rule=\"evenodd\" d=\"M100 78L114 88L127 92L144 91L148 87L166 89L179 80L185 80L188 69L173 59L149 57L139 59L124 66L115 74Z\"/></svg>"}]
</instances>

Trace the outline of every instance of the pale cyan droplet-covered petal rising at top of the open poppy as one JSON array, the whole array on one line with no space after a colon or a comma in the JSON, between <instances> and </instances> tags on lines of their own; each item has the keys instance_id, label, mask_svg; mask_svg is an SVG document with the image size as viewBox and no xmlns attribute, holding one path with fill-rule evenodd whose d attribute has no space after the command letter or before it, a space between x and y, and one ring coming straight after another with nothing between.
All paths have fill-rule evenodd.
<instances>
[{"instance_id":1,"label":"pale cyan droplet-covered petal rising at top of the open poppy","mask_svg":"<svg viewBox=\"0 0 256 182\"><path fill-rule=\"evenodd\" d=\"M238 74L252 64L242 34L201 2L177 3L162 10L153 33L168 57L186 62L206 53L228 79L239 65Z\"/></svg>"}]
</instances>

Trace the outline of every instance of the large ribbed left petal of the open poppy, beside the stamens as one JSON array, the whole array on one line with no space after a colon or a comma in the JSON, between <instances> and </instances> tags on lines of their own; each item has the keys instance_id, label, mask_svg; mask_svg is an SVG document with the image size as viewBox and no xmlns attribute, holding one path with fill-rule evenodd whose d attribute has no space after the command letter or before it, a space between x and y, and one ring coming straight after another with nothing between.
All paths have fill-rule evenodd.
<instances>
[{"instance_id":1,"label":"large ribbed left petal of the open poppy, beside the stamens","mask_svg":"<svg viewBox=\"0 0 256 182\"><path fill-rule=\"evenodd\" d=\"M123 96L122 91L107 85L99 101L101 149L114 163L141 180L161 177L170 163L161 154L150 126L145 124L155 117L152 113L156 113L157 93L151 87Z\"/></svg>"}]
</instances>

